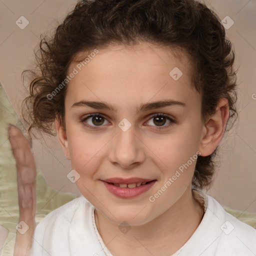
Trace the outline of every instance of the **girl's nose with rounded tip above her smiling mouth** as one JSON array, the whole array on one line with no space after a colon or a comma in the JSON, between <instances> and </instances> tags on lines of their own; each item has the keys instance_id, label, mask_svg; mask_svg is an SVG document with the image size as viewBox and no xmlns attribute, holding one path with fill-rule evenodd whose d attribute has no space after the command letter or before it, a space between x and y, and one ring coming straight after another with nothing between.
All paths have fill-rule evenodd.
<instances>
[{"instance_id":1,"label":"girl's nose with rounded tip above her smiling mouth","mask_svg":"<svg viewBox=\"0 0 256 256\"><path fill-rule=\"evenodd\" d=\"M138 132L133 125L127 130L120 127L116 126L116 135L112 139L108 158L113 164L118 164L123 169L131 169L144 161L144 144L136 134Z\"/></svg>"}]
</instances>

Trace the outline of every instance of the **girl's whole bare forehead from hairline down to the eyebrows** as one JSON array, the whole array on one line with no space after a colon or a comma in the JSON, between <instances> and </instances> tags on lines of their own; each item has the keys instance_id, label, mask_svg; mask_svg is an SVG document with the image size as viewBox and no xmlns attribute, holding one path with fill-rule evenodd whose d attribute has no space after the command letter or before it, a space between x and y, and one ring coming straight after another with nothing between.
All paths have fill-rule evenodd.
<instances>
[{"instance_id":1,"label":"girl's whole bare forehead from hairline down to the eyebrows","mask_svg":"<svg viewBox=\"0 0 256 256\"><path fill-rule=\"evenodd\" d=\"M133 46L111 45L97 49L96 54L91 52L96 51L80 52L76 60L81 61L73 61L69 66L68 74L76 70L67 86L72 101L86 96L97 101L119 99L125 104L127 98L158 100L166 94L181 101L181 96L189 97L193 91L191 61L180 48L144 42Z\"/></svg>"}]
</instances>

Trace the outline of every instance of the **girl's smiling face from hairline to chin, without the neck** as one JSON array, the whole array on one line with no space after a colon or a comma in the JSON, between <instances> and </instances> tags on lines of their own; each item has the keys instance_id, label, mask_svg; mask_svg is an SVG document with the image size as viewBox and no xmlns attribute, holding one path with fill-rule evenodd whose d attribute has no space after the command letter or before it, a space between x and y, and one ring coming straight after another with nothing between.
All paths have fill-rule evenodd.
<instances>
[{"instance_id":1,"label":"girl's smiling face from hairline to chin, without the neck","mask_svg":"<svg viewBox=\"0 0 256 256\"><path fill-rule=\"evenodd\" d=\"M60 143L81 194L116 224L145 224L191 191L201 100L175 52L109 46L69 67Z\"/></svg>"}]
</instances>

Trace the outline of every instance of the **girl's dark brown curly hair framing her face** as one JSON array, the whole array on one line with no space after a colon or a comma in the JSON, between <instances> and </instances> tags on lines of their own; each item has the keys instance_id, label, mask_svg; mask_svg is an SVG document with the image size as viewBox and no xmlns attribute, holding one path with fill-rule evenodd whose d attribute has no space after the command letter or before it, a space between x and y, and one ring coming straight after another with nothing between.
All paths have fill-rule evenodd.
<instances>
[{"instance_id":1,"label":"girl's dark brown curly hair framing her face","mask_svg":"<svg viewBox=\"0 0 256 256\"><path fill-rule=\"evenodd\" d=\"M228 124L236 119L234 52L220 19L205 4L195 0L82 0L57 26L52 37L41 35L39 54L35 53L39 73L36 69L24 70L35 75L29 96L22 102L29 137L34 135L32 128L55 135L55 118L65 128L67 86L62 86L52 98L47 95L65 80L70 63L77 61L79 53L112 43L132 45L141 41L181 47L189 54L194 69L192 86L201 96L202 120L214 112L221 97L228 100ZM198 156L194 186L210 186L217 148L208 156Z\"/></svg>"}]
</instances>

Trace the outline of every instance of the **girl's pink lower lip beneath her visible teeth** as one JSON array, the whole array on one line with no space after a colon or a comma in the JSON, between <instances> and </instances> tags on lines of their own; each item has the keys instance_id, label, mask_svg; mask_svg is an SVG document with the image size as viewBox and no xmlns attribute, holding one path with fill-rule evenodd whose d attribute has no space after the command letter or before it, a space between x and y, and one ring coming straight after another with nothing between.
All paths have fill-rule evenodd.
<instances>
[{"instance_id":1,"label":"girl's pink lower lip beneath her visible teeth","mask_svg":"<svg viewBox=\"0 0 256 256\"><path fill-rule=\"evenodd\" d=\"M134 188L119 187L119 186L112 185L111 183L108 183L106 181L103 181L103 180L101 181L104 183L107 190L112 194L121 198L132 198L149 190L156 180L149 181L144 185L136 186Z\"/></svg>"}]
</instances>

